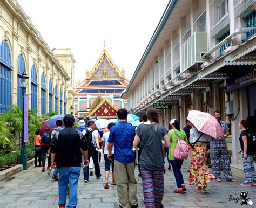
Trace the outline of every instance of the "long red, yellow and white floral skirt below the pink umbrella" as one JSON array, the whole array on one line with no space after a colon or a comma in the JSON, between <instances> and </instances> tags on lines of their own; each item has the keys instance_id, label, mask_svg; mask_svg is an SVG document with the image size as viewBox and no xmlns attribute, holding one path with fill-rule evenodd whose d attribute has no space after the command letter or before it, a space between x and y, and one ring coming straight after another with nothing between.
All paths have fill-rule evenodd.
<instances>
[{"instance_id":1,"label":"long red, yellow and white floral skirt below the pink umbrella","mask_svg":"<svg viewBox=\"0 0 256 208\"><path fill-rule=\"evenodd\" d=\"M197 142L191 155L190 177L188 183L199 187L207 186L207 183L215 179L208 170L207 165L207 143Z\"/></svg>"}]
</instances>

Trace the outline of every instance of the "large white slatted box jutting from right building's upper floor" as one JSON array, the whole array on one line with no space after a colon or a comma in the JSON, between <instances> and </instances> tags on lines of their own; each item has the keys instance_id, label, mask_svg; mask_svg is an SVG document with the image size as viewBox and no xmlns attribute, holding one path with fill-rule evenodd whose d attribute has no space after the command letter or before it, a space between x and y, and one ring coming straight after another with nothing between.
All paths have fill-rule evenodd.
<instances>
[{"instance_id":1,"label":"large white slatted box jutting from right building's upper floor","mask_svg":"<svg viewBox=\"0 0 256 208\"><path fill-rule=\"evenodd\" d=\"M181 46L181 72L196 63L203 63L201 54L207 51L207 32L194 32Z\"/></svg>"}]
</instances>

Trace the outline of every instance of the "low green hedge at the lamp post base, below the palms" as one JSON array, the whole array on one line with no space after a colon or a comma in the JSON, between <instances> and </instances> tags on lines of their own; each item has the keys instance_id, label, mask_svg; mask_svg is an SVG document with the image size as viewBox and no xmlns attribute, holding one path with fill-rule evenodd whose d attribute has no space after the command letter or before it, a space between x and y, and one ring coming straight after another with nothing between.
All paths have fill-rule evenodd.
<instances>
[{"instance_id":1,"label":"low green hedge at the lamp post base, below the palms","mask_svg":"<svg viewBox=\"0 0 256 208\"><path fill-rule=\"evenodd\" d=\"M35 157L35 147L32 144L26 145L26 151L28 158ZM0 168L3 168L5 165L12 165L19 162L19 157L21 156L21 151L14 151L6 153L0 151Z\"/></svg>"}]
</instances>

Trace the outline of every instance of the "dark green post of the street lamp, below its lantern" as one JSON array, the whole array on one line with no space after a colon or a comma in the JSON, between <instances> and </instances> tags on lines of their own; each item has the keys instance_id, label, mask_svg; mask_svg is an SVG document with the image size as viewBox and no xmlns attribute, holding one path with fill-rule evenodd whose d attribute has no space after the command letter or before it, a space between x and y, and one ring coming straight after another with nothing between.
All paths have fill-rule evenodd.
<instances>
[{"instance_id":1,"label":"dark green post of the street lamp, below its lantern","mask_svg":"<svg viewBox=\"0 0 256 208\"><path fill-rule=\"evenodd\" d=\"M28 170L28 155L26 153L26 143L24 141L24 113L25 113L25 106L24 106L24 94L26 93L26 87L22 87L22 137L21 137L21 157L20 163L23 165L23 170Z\"/></svg>"}]
</instances>

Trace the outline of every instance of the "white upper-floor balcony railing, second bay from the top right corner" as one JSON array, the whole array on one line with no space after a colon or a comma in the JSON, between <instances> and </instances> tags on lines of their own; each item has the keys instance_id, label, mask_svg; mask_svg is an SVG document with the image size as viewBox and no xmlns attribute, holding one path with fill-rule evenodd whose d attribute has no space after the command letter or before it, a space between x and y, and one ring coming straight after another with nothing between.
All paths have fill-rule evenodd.
<instances>
[{"instance_id":1,"label":"white upper-floor balcony railing, second bay from the top right corner","mask_svg":"<svg viewBox=\"0 0 256 208\"><path fill-rule=\"evenodd\" d=\"M210 3L210 10L213 12L211 22L211 37L217 38L228 26L230 19L227 0L213 0Z\"/></svg>"}]
</instances>

